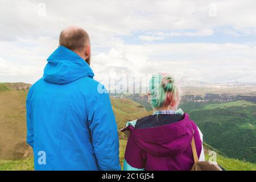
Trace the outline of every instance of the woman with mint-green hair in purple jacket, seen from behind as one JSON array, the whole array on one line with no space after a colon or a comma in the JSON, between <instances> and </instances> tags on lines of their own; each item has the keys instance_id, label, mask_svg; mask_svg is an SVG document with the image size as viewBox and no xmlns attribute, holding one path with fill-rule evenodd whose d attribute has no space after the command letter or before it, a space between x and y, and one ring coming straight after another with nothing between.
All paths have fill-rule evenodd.
<instances>
[{"instance_id":1,"label":"woman with mint-green hair in purple jacket, seen from behind","mask_svg":"<svg viewBox=\"0 0 256 182\"><path fill-rule=\"evenodd\" d=\"M193 166L192 137L200 161L204 161L203 134L187 113L177 110L180 91L171 76L152 76L148 99L154 114L128 122L130 131L123 169L190 170Z\"/></svg>"}]
</instances>

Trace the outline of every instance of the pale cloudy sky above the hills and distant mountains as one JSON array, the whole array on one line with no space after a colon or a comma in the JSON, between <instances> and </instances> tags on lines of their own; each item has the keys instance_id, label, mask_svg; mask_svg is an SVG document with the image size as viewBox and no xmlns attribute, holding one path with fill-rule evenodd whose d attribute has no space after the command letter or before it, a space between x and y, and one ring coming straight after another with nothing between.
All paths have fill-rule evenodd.
<instances>
[{"instance_id":1,"label":"pale cloudy sky above the hills and distant mountains","mask_svg":"<svg viewBox=\"0 0 256 182\"><path fill-rule=\"evenodd\" d=\"M67 26L91 39L96 80L169 73L256 82L256 1L0 0L0 82L33 84Z\"/></svg>"}]
</instances>

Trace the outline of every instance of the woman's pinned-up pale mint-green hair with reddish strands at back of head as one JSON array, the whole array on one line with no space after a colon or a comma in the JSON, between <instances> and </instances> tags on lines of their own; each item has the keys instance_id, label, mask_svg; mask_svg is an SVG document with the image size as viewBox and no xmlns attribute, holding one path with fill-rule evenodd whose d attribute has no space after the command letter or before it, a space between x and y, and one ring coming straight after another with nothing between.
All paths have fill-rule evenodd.
<instances>
[{"instance_id":1,"label":"woman's pinned-up pale mint-green hair with reddish strands at back of head","mask_svg":"<svg viewBox=\"0 0 256 182\"><path fill-rule=\"evenodd\" d=\"M154 108L180 101L179 89L174 78L162 73L152 76L148 85L148 92L150 93L151 105Z\"/></svg>"}]
</instances>

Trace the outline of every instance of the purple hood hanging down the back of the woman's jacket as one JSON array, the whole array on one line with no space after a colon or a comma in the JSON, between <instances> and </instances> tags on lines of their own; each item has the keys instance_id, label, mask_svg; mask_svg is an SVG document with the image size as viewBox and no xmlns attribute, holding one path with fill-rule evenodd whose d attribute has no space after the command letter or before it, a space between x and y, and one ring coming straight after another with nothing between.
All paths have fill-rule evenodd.
<instances>
[{"instance_id":1,"label":"purple hood hanging down the back of the woman's jacket","mask_svg":"<svg viewBox=\"0 0 256 182\"><path fill-rule=\"evenodd\" d=\"M186 113L183 120L168 125L145 129L135 129L133 126L128 128L137 145L156 156L183 153L191 145L193 137L193 126Z\"/></svg>"}]
</instances>

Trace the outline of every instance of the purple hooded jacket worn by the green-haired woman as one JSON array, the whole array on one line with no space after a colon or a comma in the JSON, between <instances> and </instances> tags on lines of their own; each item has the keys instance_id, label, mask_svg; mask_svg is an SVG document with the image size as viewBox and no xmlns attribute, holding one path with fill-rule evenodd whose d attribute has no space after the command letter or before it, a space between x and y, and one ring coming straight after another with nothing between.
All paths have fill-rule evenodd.
<instances>
[{"instance_id":1,"label":"purple hooded jacket worn by the green-haired woman","mask_svg":"<svg viewBox=\"0 0 256 182\"><path fill-rule=\"evenodd\" d=\"M190 170L194 163L191 148L193 135L199 158L203 151L199 129L186 113L184 119L178 122L143 129L130 125L124 130L130 130L125 162L133 168L149 171Z\"/></svg>"}]
</instances>

